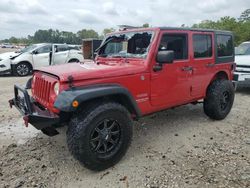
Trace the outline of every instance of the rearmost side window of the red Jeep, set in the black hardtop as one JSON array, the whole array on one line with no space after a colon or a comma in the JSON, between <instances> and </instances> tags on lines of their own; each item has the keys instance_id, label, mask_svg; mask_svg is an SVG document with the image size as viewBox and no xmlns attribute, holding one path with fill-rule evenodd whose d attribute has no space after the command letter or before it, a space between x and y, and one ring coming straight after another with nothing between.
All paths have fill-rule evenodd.
<instances>
[{"instance_id":1,"label":"rearmost side window of the red Jeep, set in the black hardtop","mask_svg":"<svg viewBox=\"0 0 250 188\"><path fill-rule=\"evenodd\" d=\"M218 57L232 56L233 51L233 37L231 35L217 35Z\"/></svg>"}]
</instances>

